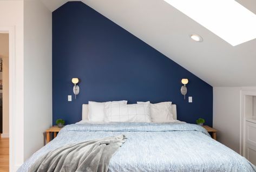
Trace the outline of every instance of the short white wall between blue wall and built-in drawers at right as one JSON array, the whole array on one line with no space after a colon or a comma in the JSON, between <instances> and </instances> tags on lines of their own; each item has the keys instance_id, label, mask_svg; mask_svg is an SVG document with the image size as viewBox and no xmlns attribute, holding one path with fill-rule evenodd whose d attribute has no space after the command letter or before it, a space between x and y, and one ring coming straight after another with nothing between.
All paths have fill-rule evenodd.
<instances>
[{"instance_id":1,"label":"short white wall between blue wall and built-in drawers at right","mask_svg":"<svg viewBox=\"0 0 256 172\"><path fill-rule=\"evenodd\" d=\"M239 87L213 88L213 127L217 140L240 152L240 90Z\"/></svg>"}]
</instances>

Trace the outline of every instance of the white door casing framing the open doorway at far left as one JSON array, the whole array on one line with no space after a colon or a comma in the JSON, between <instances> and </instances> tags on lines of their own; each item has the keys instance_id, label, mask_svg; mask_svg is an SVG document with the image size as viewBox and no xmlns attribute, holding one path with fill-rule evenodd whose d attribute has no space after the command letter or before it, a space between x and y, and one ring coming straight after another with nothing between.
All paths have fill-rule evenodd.
<instances>
[{"instance_id":1,"label":"white door casing framing the open doorway at far left","mask_svg":"<svg viewBox=\"0 0 256 172\"><path fill-rule=\"evenodd\" d=\"M16 114L16 58L15 58L15 27L0 27L0 33L9 34L9 170L14 171L14 131L13 121Z\"/></svg>"}]
</instances>

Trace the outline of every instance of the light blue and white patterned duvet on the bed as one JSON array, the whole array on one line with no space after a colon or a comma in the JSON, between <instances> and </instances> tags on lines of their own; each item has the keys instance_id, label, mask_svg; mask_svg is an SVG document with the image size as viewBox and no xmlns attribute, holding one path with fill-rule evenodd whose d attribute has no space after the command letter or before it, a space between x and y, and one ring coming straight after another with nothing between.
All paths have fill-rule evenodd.
<instances>
[{"instance_id":1,"label":"light blue and white patterned duvet on the bed","mask_svg":"<svg viewBox=\"0 0 256 172\"><path fill-rule=\"evenodd\" d=\"M69 143L124 134L127 141L111 158L109 171L256 171L246 158L187 123L71 124L32 155L18 171L27 171L38 157Z\"/></svg>"}]
</instances>

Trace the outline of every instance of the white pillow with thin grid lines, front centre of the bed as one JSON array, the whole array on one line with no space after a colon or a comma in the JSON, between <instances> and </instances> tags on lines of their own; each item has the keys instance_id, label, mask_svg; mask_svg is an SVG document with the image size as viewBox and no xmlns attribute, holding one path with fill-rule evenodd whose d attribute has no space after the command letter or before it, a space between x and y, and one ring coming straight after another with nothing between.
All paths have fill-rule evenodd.
<instances>
[{"instance_id":1,"label":"white pillow with thin grid lines, front centre of the bed","mask_svg":"<svg viewBox=\"0 0 256 172\"><path fill-rule=\"evenodd\" d=\"M105 122L151 122L150 103L105 104Z\"/></svg>"}]
</instances>

